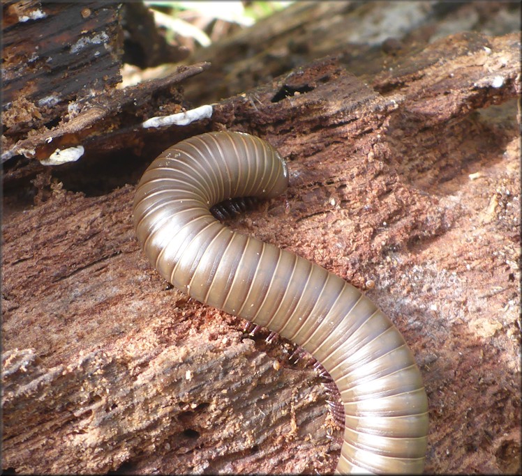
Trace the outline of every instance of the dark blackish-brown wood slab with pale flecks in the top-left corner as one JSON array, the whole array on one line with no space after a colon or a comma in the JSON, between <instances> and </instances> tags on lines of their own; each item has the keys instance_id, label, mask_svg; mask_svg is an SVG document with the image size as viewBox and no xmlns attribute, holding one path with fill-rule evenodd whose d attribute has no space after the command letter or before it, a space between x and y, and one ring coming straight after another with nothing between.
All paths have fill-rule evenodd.
<instances>
[{"instance_id":1,"label":"dark blackish-brown wood slab with pale flecks in the top-left corner","mask_svg":"<svg viewBox=\"0 0 522 476\"><path fill-rule=\"evenodd\" d=\"M6 142L58 122L76 100L121 81L120 6L8 1L3 6L2 122Z\"/></svg>"}]
</instances>

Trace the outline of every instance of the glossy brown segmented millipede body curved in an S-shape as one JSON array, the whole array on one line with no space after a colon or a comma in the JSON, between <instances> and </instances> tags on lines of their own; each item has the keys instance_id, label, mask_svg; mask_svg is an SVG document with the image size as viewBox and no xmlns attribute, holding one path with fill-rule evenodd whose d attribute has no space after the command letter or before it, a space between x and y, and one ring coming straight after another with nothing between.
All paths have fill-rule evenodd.
<instances>
[{"instance_id":1,"label":"glossy brown segmented millipede body curved in an S-shape","mask_svg":"<svg viewBox=\"0 0 522 476\"><path fill-rule=\"evenodd\" d=\"M191 137L144 172L134 201L137 238L178 289L278 332L327 369L345 411L337 473L422 473L428 402L392 321L341 277L236 233L209 212L223 200L276 197L287 186L285 162L262 139Z\"/></svg>"}]
</instances>

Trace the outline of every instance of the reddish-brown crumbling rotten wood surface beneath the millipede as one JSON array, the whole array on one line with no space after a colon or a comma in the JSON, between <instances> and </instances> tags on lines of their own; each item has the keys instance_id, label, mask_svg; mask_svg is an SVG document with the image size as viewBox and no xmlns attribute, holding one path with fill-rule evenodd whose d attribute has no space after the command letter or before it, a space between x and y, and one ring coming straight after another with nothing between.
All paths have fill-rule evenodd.
<instances>
[{"instance_id":1,"label":"reddish-brown crumbling rotten wood surface beneath the millipede","mask_svg":"<svg viewBox=\"0 0 522 476\"><path fill-rule=\"evenodd\" d=\"M175 89L165 110L181 109L178 83L204 77L200 63L129 90L142 109L109 91L101 121L48 131L80 135L78 162L46 168L44 131L18 137L13 158L36 152L4 178L3 470L334 470L341 429L306 360L172 289L134 237L156 149L228 129L267 139L290 169L285 196L230 226L365 289L410 344L430 402L426 471L520 471L520 49L519 33L459 33L363 78L332 56L187 128L140 128L156 91Z\"/></svg>"}]
</instances>

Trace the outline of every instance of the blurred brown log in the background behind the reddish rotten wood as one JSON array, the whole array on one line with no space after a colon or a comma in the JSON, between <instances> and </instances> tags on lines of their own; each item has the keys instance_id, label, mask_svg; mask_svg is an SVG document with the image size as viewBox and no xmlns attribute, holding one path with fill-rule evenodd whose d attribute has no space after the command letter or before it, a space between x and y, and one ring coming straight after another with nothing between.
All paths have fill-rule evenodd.
<instances>
[{"instance_id":1,"label":"blurred brown log in the background behind the reddish rotten wood","mask_svg":"<svg viewBox=\"0 0 522 476\"><path fill-rule=\"evenodd\" d=\"M396 56L419 52L450 33L501 35L520 28L520 5L509 2L297 1L195 51L189 63L211 61L213 67L185 91L200 103L216 102L331 55L369 83ZM171 70L166 66L165 74Z\"/></svg>"}]
</instances>

